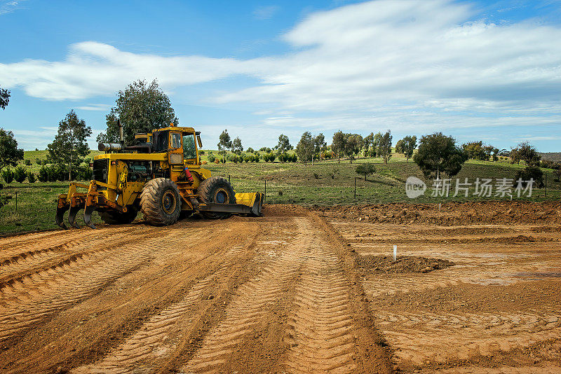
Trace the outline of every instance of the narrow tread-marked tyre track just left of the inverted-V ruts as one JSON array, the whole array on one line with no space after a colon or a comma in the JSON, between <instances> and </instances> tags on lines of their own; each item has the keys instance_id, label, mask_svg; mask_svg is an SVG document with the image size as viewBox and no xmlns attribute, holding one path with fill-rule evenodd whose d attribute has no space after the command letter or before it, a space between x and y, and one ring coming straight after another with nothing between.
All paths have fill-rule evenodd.
<instances>
[{"instance_id":1,"label":"narrow tread-marked tyre track just left of the inverted-V ruts","mask_svg":"<svg viewBox=\"0 0 561 374\"><path fill-rule=\"evenodd\" d=\"M212 290L216 289L216 282L220 282L226 275L231 261L247 252L254 242L255 237L245 246L229 248L219 268L203 279L199 279L182 300L152 316L137 333L121 343L101 361L76 368L72 373L133 373L143 364L153 369L161 361L167 361L177 344L170 344L166 340L174 332L177 333L176 330L181 329L181 326L178 326L179 322L186 316L194 317L192 314L200 309L201 305L198 304L203 300L203 295L212 293Z\"/></svg>"}]
</instances>

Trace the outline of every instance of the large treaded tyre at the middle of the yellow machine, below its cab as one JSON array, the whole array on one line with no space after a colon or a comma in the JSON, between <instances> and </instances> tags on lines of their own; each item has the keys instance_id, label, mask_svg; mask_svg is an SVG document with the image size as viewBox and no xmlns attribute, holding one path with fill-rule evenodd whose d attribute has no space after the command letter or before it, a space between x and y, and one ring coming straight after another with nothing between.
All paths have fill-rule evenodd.
<instances>
[{"instance_id":1,"label":"large treaded tyre at the middle of the yellow machine, below its cab","mask_svg":"<svg viewBox=\"0 0 561 374\"><path fill-rule=\"evenodd\" d=\"M153 226L168 226L180 217L181 197L177 185L167 178L155 178L142 188L140 210Z\"/></svg>"}]
</instances>

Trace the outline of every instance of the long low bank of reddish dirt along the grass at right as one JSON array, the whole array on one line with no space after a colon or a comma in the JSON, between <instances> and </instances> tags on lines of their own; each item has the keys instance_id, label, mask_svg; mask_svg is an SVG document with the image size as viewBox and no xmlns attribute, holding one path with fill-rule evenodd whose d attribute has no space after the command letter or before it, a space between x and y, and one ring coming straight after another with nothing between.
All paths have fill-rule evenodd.
<instances>
[{"instance_id":1,"label":"long low bank of reddish dirt along the grass at right","mask_svg":"<svg viewBox=\"0 0 561 374\"><path fill-rule=\"evenodd\" d=\"M330 219L372 223L431 223L440 226L480 223L561 224L561 202L446 202L438 204L336 205L312 208Z\"/></svg>"}]
</instances>

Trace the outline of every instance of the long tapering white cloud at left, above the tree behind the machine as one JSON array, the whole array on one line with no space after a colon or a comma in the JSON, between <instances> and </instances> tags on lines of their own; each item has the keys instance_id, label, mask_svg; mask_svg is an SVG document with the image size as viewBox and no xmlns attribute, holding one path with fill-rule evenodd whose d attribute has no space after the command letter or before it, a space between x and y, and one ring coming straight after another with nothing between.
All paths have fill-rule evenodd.
<instances>
[{"instance_id":1,"label":"long tapering white cloud at left, above the tree behind the machine","mask_svg":"<svg viewBox=\"0 0 561 374\"><path fill-rule=\"evenodd\" d=\"M242 65L249 67L233 59L135 54L86 41L73 44L62 62L25 60L0 64L0 83L8 88L22 86L32 97L86 99L114 95L139 78L158 78L164 88L213 81L245 71Z\"/></svg>"}]
</instances>

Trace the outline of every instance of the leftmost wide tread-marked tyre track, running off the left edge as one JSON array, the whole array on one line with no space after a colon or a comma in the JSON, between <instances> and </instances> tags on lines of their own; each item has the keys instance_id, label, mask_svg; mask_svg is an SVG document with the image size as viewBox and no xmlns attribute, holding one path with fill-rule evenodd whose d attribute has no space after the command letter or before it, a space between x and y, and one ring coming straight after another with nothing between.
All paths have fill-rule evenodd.
<instances>
[{"instance_id":1,"label":"leftmost wide tread-marked tyre track, running off the left edge","mask_svg":"<svg viewBox=\"0 0 561 374\"><path fill-rule=\"evenodd\" d=\"M58 310L92 296L98 289L114 279L146 263L155 251L164 246L161 238L138 242L151 235L121 240L111 244L111 249L77 254L62 263L39 270L20 279L13 279L1 289L0 341L13 338L32 328ZM126 246L126 247L123 247Z\"/></svg>"}]
</instances>

